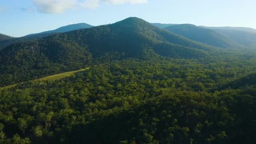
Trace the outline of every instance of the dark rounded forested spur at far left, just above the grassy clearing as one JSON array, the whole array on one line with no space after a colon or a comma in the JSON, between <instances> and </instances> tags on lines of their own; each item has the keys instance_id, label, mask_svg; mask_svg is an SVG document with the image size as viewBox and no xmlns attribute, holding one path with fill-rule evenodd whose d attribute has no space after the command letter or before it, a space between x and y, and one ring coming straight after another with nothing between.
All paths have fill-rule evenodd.
<instances>
[{"instance_id":1,"label":"dark rounded forested spur at far left, just above the grassy clearing","mask_svg":"<svg viewBox=\"0 0 256 144\"><path fill-rule=\"evenodd\" d=\"M0 87L87 67L92 55L75 43L14 44L0 51Z\"/></svg>"}]
</instances>

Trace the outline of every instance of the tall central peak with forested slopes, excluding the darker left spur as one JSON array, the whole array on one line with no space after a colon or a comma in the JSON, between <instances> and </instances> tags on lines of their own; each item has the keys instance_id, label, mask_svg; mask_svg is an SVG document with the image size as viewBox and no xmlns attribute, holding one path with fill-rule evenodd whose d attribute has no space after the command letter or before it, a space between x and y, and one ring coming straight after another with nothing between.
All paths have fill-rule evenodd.
<instances>
[{"instance_id":1,"label":"tall central peak with forested slopes, excluding the darker left spur","mask_svg":"<svg viewBox=\"0 0 256 144\"><path fill-rule=\"evenodd\" d=\"M109 49L115 50L138 50L141 45L155 43L173 43L180 46L187 46L194 49L211 51L214 47L192 41L167 30L157 28L150 23L135 17L120 22L96 26L89 29L62 33L51 38L61 38L69 41L83 43L91 47L91 51L102 52ZM124 49L130 47L130 49Z\"/></svg>"}]
</instances>

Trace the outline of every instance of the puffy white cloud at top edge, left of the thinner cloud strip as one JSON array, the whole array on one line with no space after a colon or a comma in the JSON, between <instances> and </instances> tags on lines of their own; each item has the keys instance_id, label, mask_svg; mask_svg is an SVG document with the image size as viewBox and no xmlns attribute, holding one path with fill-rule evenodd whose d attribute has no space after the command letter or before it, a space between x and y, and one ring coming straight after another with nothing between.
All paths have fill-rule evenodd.
<instances>
[{"instance_id":1,"label":"puffy white cloud at top edge, left of the thinner cloud strip","mask_svg":"<svg viewBox=\"0 0 256 144\"><path fill-rule=\"evenodd\" d=\"M33 0L36 9L42 13L64 13L77 3L76 0Z\"/></svg>"}]
</instances>

